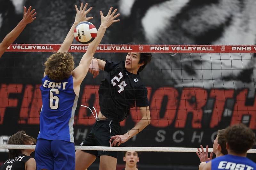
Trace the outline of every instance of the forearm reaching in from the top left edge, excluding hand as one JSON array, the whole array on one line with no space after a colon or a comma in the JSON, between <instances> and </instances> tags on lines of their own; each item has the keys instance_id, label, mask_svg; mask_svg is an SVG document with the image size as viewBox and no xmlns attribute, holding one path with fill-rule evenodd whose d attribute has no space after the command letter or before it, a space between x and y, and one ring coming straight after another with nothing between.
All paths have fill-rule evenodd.
<instances>
[{"instance_id":1,"label":"forearm reaching in from the top left edge, excluding hand","mask_svg":"<svg viewBox=\"0 0 256 170\"><path fill-rule=\"evenodd\" d=\"M27 24L24 23L23 20L21 20L20 23L4 37L4 40L2 41L1 45L3 45L7 49L13 43L13 41L15 41L18 38L20 33L26 27L26 25Z\"/></svg>"}]
</instances>

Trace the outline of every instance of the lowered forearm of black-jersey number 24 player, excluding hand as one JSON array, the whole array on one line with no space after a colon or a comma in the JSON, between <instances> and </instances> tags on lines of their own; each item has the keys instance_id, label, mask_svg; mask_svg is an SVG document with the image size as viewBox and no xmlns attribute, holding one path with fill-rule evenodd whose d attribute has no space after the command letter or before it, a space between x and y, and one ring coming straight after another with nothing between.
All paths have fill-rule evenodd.
<instances>
[{"instance_id":1,"label":"lowered forearm of black-jersey number 24 player, excluding hand","mask_svg":"<svg viewBox=\"0 0 256 170\"><path fill-rule=\"evenodd\" d=\"M140 133L141 130L146 128L150 124L150 116L144 116L141 118L141 120L131 129L129 130L125 135L130 139L134 135L137 135Z\"/></svg>"}]
</instances>

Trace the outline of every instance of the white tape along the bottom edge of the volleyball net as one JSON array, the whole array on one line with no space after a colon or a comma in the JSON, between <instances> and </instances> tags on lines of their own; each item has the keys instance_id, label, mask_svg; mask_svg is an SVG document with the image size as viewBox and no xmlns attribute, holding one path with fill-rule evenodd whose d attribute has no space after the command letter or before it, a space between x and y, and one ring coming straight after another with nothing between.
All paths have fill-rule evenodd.
<instances>
[{"instance_id":1,"label":"white tape along the bottom edge of the volleyball net","mask_svg":"<svg viewBox=\"0 0 256 170\"><path fill-rule=\"evenodd\" d=\"M3 144L0 149L35 149L36 145ZM75 146L76 150L91 151L137 151L137 152L197 152L197 148L172 148L172 147L109 147L109 146ZM205 148L206 149L206 148ZM212 152L209 148L208 152ZM256 153L250 149L247 153Z\"/></svg>"}]
</instances>

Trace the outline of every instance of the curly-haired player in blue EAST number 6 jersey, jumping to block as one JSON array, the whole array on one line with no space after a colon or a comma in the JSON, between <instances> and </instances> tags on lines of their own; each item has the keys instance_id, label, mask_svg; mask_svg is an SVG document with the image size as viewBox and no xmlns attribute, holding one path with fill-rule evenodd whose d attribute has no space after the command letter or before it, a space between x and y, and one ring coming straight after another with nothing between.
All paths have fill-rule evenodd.
<instances>
[{"instance_id":1,"label":"curly-haired player in blue EAST number 6 jersey, jumping to block","mask_svg":"<svg viewBox=\"0 0 256 170\"><path fill-rule=\"evenodd\" d=\"M80 10L76 6L76 19L63 41L59 51L51 55L45 62L44 78L40 87L43 106L40 114L40 132L36 144L37 169L47 170L72 170L75 169L74 147L74 114L77 106L80 85L85 78L89 65L106 29L114 22L119 14L117 9L112 12L110 8L106 17L101 15L101 25L97 37L89 45L79 65L74 69L73 56L67 53L74 40L74 29L86 18L86 14L92 9L85 11L87 4Z\"/></svg>"}]
</instances>

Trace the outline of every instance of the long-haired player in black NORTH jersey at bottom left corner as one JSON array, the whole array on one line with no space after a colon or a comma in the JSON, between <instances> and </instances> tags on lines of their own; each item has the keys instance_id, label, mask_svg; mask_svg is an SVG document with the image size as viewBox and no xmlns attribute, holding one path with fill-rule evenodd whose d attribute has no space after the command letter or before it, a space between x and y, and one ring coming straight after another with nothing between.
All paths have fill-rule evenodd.
<instances>
[{"instance_id":1,"label":"long-haired player in black NORTH jersey at bottom left corner","mask_svg":"<svg viewBox=\"0 0 256 170\"><path fill-rule=\"evenodd\" d=\"M12 135L7 144L36 144L36 139L21 130ZM30 156L34 149L8 149L9 159L0 167L0 170L35 170L36 161Z\"/></svg>"}]
</instances>

